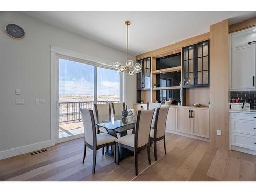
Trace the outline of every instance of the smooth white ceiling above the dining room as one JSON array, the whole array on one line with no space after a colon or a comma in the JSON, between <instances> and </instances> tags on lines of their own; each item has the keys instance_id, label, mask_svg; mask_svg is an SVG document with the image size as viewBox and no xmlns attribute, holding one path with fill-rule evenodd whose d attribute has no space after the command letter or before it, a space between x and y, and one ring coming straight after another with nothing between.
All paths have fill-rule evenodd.
<instances>
[{"instance_id":1,"label":"smooth white ceiling above the dining room","mask_svg":"<svg viewBox=\"0 0 256 192\"><path fill-rule=\"evenodd\" d=\"M256 16L256 11L25 11L26 15L121 51L126 49L125 20L130 20L129 52L138 55L209 32L209 26Z\"/></svg>"}]
</instances>

